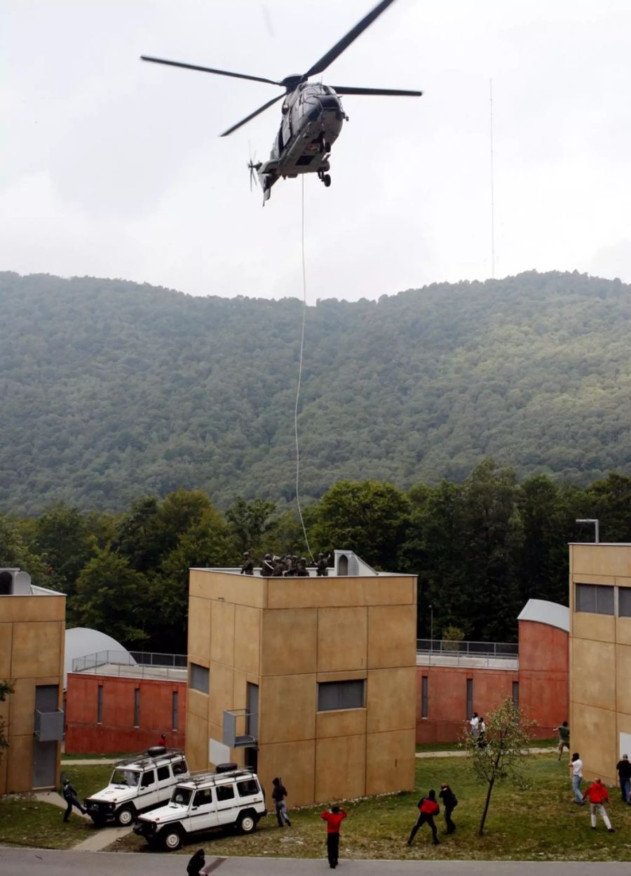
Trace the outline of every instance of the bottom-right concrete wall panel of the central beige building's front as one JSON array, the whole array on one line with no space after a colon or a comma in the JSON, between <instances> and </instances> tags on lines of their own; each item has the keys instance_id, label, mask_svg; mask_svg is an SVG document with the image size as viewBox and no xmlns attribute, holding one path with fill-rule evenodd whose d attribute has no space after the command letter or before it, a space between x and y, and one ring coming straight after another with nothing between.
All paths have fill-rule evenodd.
<instances>
[{"instance_id":1,"label":"bottom-right concrete wall panel of the central beige building's front","mask_svg":"<svg viewBox=\"0 0 631 876\"><path fill-rule=\"evenodd\" d=\"M368 733L366 794L411 791L415 784L414 730Z\"/></svg>"}]
</instances>

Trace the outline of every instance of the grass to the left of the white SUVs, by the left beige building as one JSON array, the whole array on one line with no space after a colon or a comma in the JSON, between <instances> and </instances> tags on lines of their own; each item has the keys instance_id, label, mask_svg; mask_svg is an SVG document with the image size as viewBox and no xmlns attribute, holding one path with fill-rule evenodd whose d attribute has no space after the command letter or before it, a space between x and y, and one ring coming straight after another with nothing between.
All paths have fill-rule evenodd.
<instances>
[{"instance_id":1,"label":"grass to the left of the white SUVs, by the left beige building","mask_svg":"<svg viewBox=\"0 0 631 876\"><path fill-rule=\"evenodd\" d=\"M79 799L94 794L109 782L111 765L98 767L63 767L77 789ZM67 824L64 810L52 803L36 800L31 795L0 797L0 844L29 846L39 849L69 849L91 836L95 825L81 818L73 809Z\"/></svg>"}]
</instances>

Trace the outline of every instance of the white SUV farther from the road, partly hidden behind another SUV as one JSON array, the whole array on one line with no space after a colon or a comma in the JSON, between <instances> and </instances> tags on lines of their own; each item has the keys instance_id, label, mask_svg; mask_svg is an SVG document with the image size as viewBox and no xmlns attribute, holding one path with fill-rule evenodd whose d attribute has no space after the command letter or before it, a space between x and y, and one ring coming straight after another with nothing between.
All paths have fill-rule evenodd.
<instances>
[{"instance_id":1,"label":"white SUV farther from the road, partly hidden behind another SUV","mask_svg":"<svg viewBox=\"0 0 631 876\"><path fill-rule=\"evenodd\" d=\"M184 752L154 745L146 754L116 764L108 787L86 798L88 816L97 827L112 820L130 824L139 812L162 806L188 775Z\"/></svg>"}]
</instances>

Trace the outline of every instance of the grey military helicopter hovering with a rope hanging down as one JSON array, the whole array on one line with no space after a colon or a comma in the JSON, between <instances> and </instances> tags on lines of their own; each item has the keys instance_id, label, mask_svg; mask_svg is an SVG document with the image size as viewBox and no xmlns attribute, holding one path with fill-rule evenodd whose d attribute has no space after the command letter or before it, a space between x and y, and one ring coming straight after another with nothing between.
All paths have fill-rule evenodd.
<instances>
[{"instance_id":1,"label":"grey military helicopter hovering with a rope hanging down","mask_svg":"<svg viewBox=\"0 0 631 876\"><path fill-rule=\"evenodd\" d=\"M285 76L279 81L266 79L263 76L250 76L243 73L231 73L228 70L217 70L214 67L200 67L196 64L185 64L177 60L165 60L154 58L150 55L141 55L142 60L152 61L155 64L166 64L170 67L184 67L186 70L200 70L202 73L214 73L220 76L233 76L235 79L249 79L255 82L268 82L270 85L278 85L284 88L284 95L277 95L263 106L255 109L249 116L240 122L233 124L228 131L224 131L221 137L228 137L233 131L241 128L251 119L269 109L277 101L283 100L281 112L283 119L278 129L268 161L259 161L256 164L250 158L250 188L252 179L256 181L254 173L260 180L263 188L263 204L270 197L271 187L277 180L287 177L296 178L299 173L317 173L319 180L329 187L331 175L329 170L330 156L333 143L340 136L342 124L348 121L348 117L342 108L340 95L386 95L420 97L422 91L409 91L395 88L354 88L347 86L330 86L322 83L309 82L311 76L323 73L333 60L338 58L345 49L362 32L378 18L394 0L382 0L368 15L361 19L346 36L342 37L332 49L324 54L319 60L309 67L304 74L292 74Z\"/></svg>"}]
</instances>

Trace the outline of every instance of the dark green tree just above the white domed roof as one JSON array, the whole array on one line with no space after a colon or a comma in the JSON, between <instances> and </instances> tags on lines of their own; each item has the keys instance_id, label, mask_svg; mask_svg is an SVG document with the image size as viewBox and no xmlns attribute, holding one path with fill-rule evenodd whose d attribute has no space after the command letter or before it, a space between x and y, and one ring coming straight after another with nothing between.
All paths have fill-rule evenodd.
<instances>
[{"instance_id":1,"label":"dark green tree just above the white domed roof","mask_svg":"<svg viewBox=\"0 0 631 876\"><path fill-rule=\"evenodd\" d=\"M99 550L77 579L69 600L77 626L89 626L137 648L148 638L144 627L158 614L146 577L109 548Z\"/></svg>"}]
</instances>

